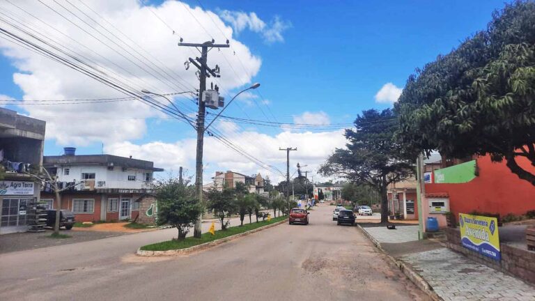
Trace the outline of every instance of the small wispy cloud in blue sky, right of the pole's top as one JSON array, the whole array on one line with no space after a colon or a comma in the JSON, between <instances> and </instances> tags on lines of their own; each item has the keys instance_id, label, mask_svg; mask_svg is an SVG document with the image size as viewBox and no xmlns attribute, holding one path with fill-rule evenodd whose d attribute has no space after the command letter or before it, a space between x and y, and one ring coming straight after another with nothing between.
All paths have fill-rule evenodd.
<instances>
[{"instance_id":1,"label":"small wispy cloud in blue sky, right of the pole's top","mask_svg":"<svg viewBox=\"0 0 535 301\"><path fill-rule=\"evenodd\" d=\"M237 34L249 29L255 33L260 33L266 43L284 42L282 33L292 26L290 22L281 20L281 17L277 15L269 24L261 20L256 13L222 10L219 15L222 20L231 24Z\"/></svg>"}]
</instances>

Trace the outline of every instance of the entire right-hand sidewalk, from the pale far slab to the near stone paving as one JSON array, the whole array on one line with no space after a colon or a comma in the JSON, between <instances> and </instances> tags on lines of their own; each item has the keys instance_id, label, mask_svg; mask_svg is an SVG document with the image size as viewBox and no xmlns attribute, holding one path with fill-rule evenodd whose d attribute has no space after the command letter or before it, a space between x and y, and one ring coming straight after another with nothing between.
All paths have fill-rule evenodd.
<instances>
[{"instance_id":1,"label":"entire right-hand sidewalk, from the pale far slab to the near stone paving","mask_svg":"<svg viewBox=\"0 0 535 301\"><path fill-rule=\"evenodd\" d=\"M366 236L389 254L405 274L417 274L420 287L428 287L441 300L535 300L535 288L502 272L481 265L439 242L418 240L417 227L362 228ZM414 233L414 231L416 231ZM410 238L416 239L410 239Z\"/></svg>"}]
</instances>

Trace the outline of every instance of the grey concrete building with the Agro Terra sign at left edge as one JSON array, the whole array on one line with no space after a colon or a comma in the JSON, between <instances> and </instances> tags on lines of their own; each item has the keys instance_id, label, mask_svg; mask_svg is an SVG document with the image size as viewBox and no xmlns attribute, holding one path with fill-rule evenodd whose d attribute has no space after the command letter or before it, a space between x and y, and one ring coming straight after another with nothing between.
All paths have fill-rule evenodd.
<instances>
[{"instance_id":1,"label":"grey concrete building with the Agro Terra sign at left edge","mask_svg":"<svg viewBox=\"0 0 535 301\"><path fill-rule=\"evenodd\" d=\"M42 162L45 121L0 108L0 234L26 231L27 208L39 201L40 184L27 173Z\"/></svg>"}]
</instances>

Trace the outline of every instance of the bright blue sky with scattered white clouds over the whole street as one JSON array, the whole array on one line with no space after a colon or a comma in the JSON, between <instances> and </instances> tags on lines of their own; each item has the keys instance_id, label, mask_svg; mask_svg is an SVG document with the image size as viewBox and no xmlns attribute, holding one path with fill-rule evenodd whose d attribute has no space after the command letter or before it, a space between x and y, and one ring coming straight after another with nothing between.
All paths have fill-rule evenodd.
<instances>
[{"instance_id":1,"label":"bright blue sky with scattered white clouds over the whole street","mask_svg":"<svg viewBox=\"0 0 535 301\"><path fill-rule=\"evenodd\" d=\"M171 6L162 1L146 1L144 4L125 1L124 5L115 7L111 4L108 6L106 1L84 2L96 11L100 11L111 23L123 29L123 32L129 31L125 19L135 22L137 13L148 14L144 6L150 6L164 22L176 30L176 34L173 36L169 33L170 30L152 15L145 15L144 18L139 19L140 22L147 22L145 26L150 26L153 32L161 34L164 39L169 40L169 43L161 47L150 45L146 41L153 37L148 33L144 36L143 33L138 35L138 32L131 32L127 36L141 45L147 45L149 48L156 47L151 53L162 61L166 61L166 55L176 53L175 56L170 56L169 60L176 59L179 65L182 65L187 56L192 56L192 53L179 52L183 49L178 50L176 47L175 42L178 36L191 37L185 42L202 42L203 39L209 38L196 21L200 21L207 29L214 25L212 20L203 15L204 12L200 8L195 12L195 14L199 13L198 20L193 20L189 13L193 10L189 12L181 10L185 7L181 3L180 6L178 4ZM199 6L199 1L185 1L185 3L190 9ZM375 100L375 95L382 86L391 83L397 88L403 88L405 80L415 68L433 61L438 54L449 52L467 36L485 28L493 10L503 6L503 1L203 0L201 3L203 8L215 14L210 15L212 18L224 22L227 34L232 29L231 46L237 45L236 41L252 54L252 56L243 54L242 48L239 48L242 53L238 52L236 55L233 54L236 49L221 49L221 52L226 52L226 59L233 62L231 65L235 71L241 73L244 69L235 61L235 56L238 56L245 65L245 69L248 69L248 75L256 73L256 76L252 78L240 75L238 76L240 79L235 79L233 83L229 82L228 86L222 87L226 99L231 98L233 93L240 91L251 82L261 83L261 88L259 88L261 96L253 93L252 98L237 100L225 114L240 118L288 123L302 121L302 123L323 125L350 123L363 109L391 107L391 102L378 103ZM50 15L50 12L44 8L36 7L38 6L36 3L22 3L21 6L35 10L34 13L43 20L50 20L52 23L64 26L69 25L65 20ZM16 11L13 7L8 7L8 9ZM225 12L227 16L236 17L235 20L238 20L237 16L240 13L245 13L245 17L251 17L251 13L254 13L261 21L246 24L238 29L228 17L226 19L222 17ZM118 18L121 13L130 14L129 17L132 17L129 19L123 15ZM241 16L244 17L243 14ZM246 21L252 22L251 20ZM180 23L182 21L187 24ZM258 24L261 23L264 25L259 28ZM2 22L0 24L4 26ZM224 43L224 38L219 34L220 29L222 26L217 29L212 28L210 32L217 38L217 42ZM200 40L194 40L196 37ZM84 43L86 38L79 36L79 41ZM40 62L36 63L30 59L33 56L19 57L17 53L22 53L20 48L10 45L5 40L0 42L3 50L0 56L0 95L4 95L3 99L6 97L15 99L98 98L95 97L96 95L100 98L106 95L110 98L121 97L107 87L100 88L101 84L88 84L91 88L86 88L86 81L91 81L91 79L70 82L63 78L61 68L58 70L44 68L38 65ZM87 43L91 42L87 40ZM105 47L102 47L103 53L104 50ZM161 56L159 51L162 53ZM261 60L261 64L255 65L253 57ZM210 60L212 62L222 60L217 49L210 53L209 62ZM48 66L52 63L43 64ZM42 75L42 70L49 70L49 72ZM41 75L37 76L40 71ZM190 71L187 73L180 68L180 75L187 77L187 81L194 84L195 75L192 70ZM179 72L178 67L177 72ZM15 73L30 76L26 81L17 82L14 80ZM231 77L236 77L233 70L223 68L222 65L222 79L230 81ZM222 83L225 82L222 81ZM50 86L56 88L49 88ZM49 91L46 91L47 89ZM63 91L63 93L58 91ZM169 88L165 91L169 91ZM177 98L176 101L179 106L184 105L193 109L193 104L189 100ZM268 104L262 104L263 101ZM128 103L124 105L130 106ZM57 114L52 109L54 106L42 106L50 109L39 110L37 113L31 109L36 106L9 105L8 107L22 114L43 118L47 120L47 124L51 125L50 130L47 128L50 134L45 143L45 155L57 155L61 153L63 146L77 146L78 153L100 153L102 143L104 143L106 153L128 155L128 153L137 152L133 153L134 157L155 160L157 164L164 165L161 167L167 170L176 170L178 165L189 169L194 167L189 148L189 143L191 143L189 139L194 139L193 130L184 123L162 119L157 114L146 112L141 114L140 111L145 111L141 109L142 106L136 107L133 111L123 111L117 107L107 109L107 105L104 104L80 110L71 109ZM86 115L93 109L95 109L94 114ZM111 109L115 111L115 114L109 112ZM98 113L102 111L105 111L106 117L100 118ZM302 115L305 112L310 114ZM61 123L54 121L56 115L60 119L63 118ZM112 119L115 119L115 123L108 124ZM53 125L54 122L56 125ZM82 125L98 128L99 124L102 125L100 130L95 129L95 131L113 130L114 133L95 134L95 137L91 139L84 139L84 135L91 134L91 131L84 129ZM281 170L284 170L285 158L284 153L277 149L279 146L285 147L286 145L282 145L284 143L299 143L303 151L295 152L295 160L310 164L313 169L323 162L335 147L343 146L343 139L325 138L339 135L340 131L335 130L330 130L330 132L329 130L311 130L310 134L306 134L308 129L288 130L230 123L221 126L222 128L226 126L228 137L233 138L235 143L245 150L255 148L260 141L263 141L258 137L270 141L266 144L281 144L264 145L261 146L261 151L251 151L263 162ZM145 127L144 130L139 130L143 127ZM289 132L286 136L281 134L285 131ZM64 136L59 136L59 132L64 132ZM164 158L162 155L156 155L156 153L160 154L154 151L156 142L160 143L157 147L163 151L173 148L176 152L174 157L181 159L173 160L174 157ZM311 149L318 148L318 144L326 144L328 147L321 146L316 153L313 153ZM224 148L224 146L211 144L208 144L208 147ZM266 148L270 151L266 151ZM217 155L206 157L207 173L212 174L218 169L242 169L241 171L245 173L260 171L279 177L277 173L263 171L261 167L251 164L249 160L244 160L242 155L234 153L235 157L233 157L231 153L233 152L225 153L226 155L222 155L222 158Z\"/></svg>"}]
</instances>

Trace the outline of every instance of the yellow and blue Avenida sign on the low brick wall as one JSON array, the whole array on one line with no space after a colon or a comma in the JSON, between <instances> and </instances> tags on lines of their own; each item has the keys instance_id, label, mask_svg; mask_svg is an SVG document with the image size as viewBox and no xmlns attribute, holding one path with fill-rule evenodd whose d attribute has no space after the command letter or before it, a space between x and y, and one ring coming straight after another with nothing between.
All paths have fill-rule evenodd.
<instances>
[{"instance_id":1,"label":"yellow and blue Avenida sign on the low brick wall","mask_svg":"<svg viewBox=\"0 0 535 301\"><path fill-rule=\"evenodd\" d=\"M496 217L459 213L460 242L463 247L499 261L498 220Z\"/></svg>"}]
</instances>

